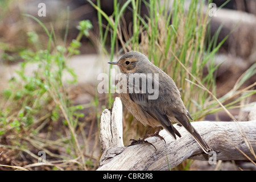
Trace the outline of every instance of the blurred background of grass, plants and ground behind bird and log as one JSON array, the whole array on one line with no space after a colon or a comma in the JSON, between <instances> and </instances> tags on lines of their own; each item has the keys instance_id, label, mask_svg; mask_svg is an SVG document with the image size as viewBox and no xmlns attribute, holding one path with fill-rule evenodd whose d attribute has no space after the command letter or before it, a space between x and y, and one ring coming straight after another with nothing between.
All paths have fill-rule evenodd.
<instances>
[{"instance_id":1,"label":"blurred background of grass, plants and ground behind bird and log","mask_svg":"<svg viewBox=\"0 0 256 182\"><path fill-rule=\"evenodd\" d=\"M254 0L0 1L0 12L0 164L9 166L0 170L97 169L100 115L118 96L98 93L97 77L114 87L107 63L131 50L175 80L195 121L249 121L256 110ZM125 145L146 130L123 108ZM255 170L218 164L188 159L173 170Z\"/></svg>"}]
</instances>

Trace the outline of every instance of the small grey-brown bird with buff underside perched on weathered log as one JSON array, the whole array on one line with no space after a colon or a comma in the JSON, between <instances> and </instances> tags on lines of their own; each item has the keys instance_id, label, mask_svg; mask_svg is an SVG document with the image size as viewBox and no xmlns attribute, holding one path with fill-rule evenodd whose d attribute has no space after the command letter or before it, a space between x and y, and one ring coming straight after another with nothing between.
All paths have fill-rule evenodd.
<instances>
[{"instance_id":1,"label":"small grey-brown bird with buff underside perched on weathered log","mask_svg":"<svg viewBox=\"0 0 256 182\"><path fill-rule=\"evenodd\" d=\"M176 135L181 135L172 125L171 121L174 121L185 127L206 154L212 150L189 122L189 118L193 119L170 76L135 51L125 53L118 62L109 64L118 65L124 73L119 78L121 100L138 121L151 127L162 126L176 139Z\"/></svg>"}]
</instances>

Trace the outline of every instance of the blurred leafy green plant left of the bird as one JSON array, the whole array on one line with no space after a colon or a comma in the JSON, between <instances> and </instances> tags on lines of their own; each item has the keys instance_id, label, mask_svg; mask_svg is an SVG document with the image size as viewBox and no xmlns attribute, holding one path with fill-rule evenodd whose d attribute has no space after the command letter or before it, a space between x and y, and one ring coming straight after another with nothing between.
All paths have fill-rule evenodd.
<instances>
[{"instance_id":1,"label":"blurred leafy green plant left of the bird","mask_svg":"<svg viewBox=\"0 0 256 182\"><path fill-rule=\"evenodd\" d=\"M24 49L19 52L23 62L20 63L20 70L16 71L18 77L10 80L9 88L1 93L3 100L0 103L0 138L10 138L10 142L5 143L5 146L12 148L18 144L19 147L16 149L21 151L27 148L28 142L32 146L46 151L48 156L58 158L70 158L68 155L71 155L72 158L80 156L82 159L80 167L86 169L86 166L92 166L92 164L85 161L76 135L77 121L84 117L79 113L83 107L71 105L67 89L64 86L63 73L66 71L73 76L73 80L68 81L69 84L76 82L77 76L67 66L66 56L69 58L80 53L80 39L82 35L89 36L88 31L92 28L92 24L88 20L81 21L77 39L73 40L66 48L55 45L53 29L48 32L43 23L34 16L26 16L35 19L44 28L49 38L48 47L38 51ZM36 32L28 32L27 36L28 42L37 47L40 40ZM25 73L29 64L36 64L37 67L32 75ZM58 134L60 139L55 144L47 138L36 137L47 125L49 127L52 122L59 119L65 121L71 137L64 137L64 133L60 131ZM47 140L52 143L51 147L68 144L69 152L67 150L66 156L53 155L47 149Z\"/></svg>"}]
</instances>

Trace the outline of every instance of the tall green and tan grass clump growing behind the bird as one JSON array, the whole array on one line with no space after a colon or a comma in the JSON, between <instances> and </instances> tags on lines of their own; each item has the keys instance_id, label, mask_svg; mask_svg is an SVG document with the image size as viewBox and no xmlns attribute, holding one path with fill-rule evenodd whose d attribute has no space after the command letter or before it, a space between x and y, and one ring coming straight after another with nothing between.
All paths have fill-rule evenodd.
<instances>
[{"instance_id":1,"label":"tall green and tan grass clump growing behind the bird","mask_svg":"<svg viewBox=\"0 0 256 182\"><path fill-rule=\"evenodd\" d=\"M192 113L193 118L203 119L205 115L225 110L226 107L228 109L237 107L242 99L255 93L255 90L246 90L246 96L241 96L241 92L238 91L236 95L240 97L228 105L222 105L222 103L233 98L234 90L219 100L214 96L213 93L216 93L215 73L220 65L214 64L214 55L228 36L219 44L216 43L222 28L220 26L212 39L209 36L206 37L209 32L210 17L203 11L205 1L192 0L188 9L185 9L184 0L174 1L171 9L169 9L170 1L163 1L162 4L159 0L130 0L122 6L114 1L112 16L107 16L100 9L100 1L97 1L97 5L91 1L88 2L98 11L100 49L110 56L110 61L113 59L115 49L118 49L117 39L122 45L122 48L115 52L117 55L122 51L131 50L147 55L152 63L175 80L177 87L180 88L184 104ZM148 10L145 19L139 14L142 2ZM129 3L132 8L127 8ZM129 36L127 30L123 28L122 13L125 9L133 12L133 36ZM102 28L102 17L108 22L106 29ZM109 32L112 38L110 53L106 51L104 36ZM203 75L205 68L208 72ZM254 71L250 69L241 80L245 81L254 74ZM113 83L110 82L109 86L111 84ZM241 84L236 85L236 90L239 86ZM109 94L109 105L112 101L112 95Z\"/></svg>"}]
</instances>

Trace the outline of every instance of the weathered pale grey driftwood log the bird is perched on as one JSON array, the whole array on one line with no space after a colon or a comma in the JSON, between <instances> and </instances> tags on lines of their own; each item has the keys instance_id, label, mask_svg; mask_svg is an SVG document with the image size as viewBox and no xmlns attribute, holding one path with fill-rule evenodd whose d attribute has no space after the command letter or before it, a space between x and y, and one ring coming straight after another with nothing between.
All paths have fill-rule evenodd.
<instances>
[{"instance_id":1,"label":"weathered pale grey driftwood log the bird is perched on","mask_svg":"<svg viewBox=\"0 0 256 182\"><path fill-rule=\"evenodd\" d=\"M185 159L250 160L255 164L256 121L247 122L192 122L193 127L213 148L208 155L191 135L179 125L174 125L181 134L175 140L165 130L158 137L146 140L149 144L125 147L122 139L122 103L117 97L112 111L105 109L101 115L100 144L102 156L97 170L168 170Z\"/></svg>"}]
</instances>

